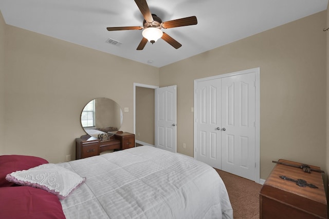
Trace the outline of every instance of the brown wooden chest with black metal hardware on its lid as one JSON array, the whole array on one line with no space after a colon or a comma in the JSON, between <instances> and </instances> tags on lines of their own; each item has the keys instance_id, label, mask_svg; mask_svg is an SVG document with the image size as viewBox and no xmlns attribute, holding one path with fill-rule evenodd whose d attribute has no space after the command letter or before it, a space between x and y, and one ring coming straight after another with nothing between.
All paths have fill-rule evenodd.
<instances>
[{"instance_id":1,"label":"brown wooden chest with black metal hardware on its lid","mask_svg":"<svg viewBox=\"0 0 329 219\"><path fill-rule=\"evenodd\" d=\"M301 165L286 160L279 162ZM310 167L320 170L319 167ZM300 187L280 176L302 179L318 188ZM322 174L315 171L306 173L300 168L277 164L260 192L260 218L327 218Z\"/></svg>"}]
</instances>

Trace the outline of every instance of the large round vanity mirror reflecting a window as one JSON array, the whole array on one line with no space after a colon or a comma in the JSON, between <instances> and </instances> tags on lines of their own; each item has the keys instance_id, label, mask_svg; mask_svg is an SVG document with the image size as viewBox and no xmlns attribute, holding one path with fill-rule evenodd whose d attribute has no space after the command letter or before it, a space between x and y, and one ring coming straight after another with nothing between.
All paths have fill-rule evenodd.
<instances>
[{"instance_id":1,"label":"large round vanity mirror reflecting a window","mask_svg":"<svg viewBox=\"0 0 329 219\"><path fill-rule=\"evenodd\" d=\"M96 98L86 104L81 113L81 125L93 137L118 131L122 124L120 106L108 98Z\"/></svg>"}]
</instances>

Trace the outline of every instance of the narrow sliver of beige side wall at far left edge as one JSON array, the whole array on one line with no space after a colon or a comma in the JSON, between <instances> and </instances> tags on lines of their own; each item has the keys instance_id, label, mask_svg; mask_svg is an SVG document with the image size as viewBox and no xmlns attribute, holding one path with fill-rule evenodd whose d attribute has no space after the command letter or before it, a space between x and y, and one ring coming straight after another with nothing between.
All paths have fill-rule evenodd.
<instances>
[{"instance_id":1,"label":"narrow sliver of beige side wall at far left edge","mask_svg":"<svg viewBox=\"0 0 329 219\"><path fill-rule=\"evenodd\" d=\"M6 24L0 11L0 154L5 147L5 30Z\"/></svg>"}]
</instances>

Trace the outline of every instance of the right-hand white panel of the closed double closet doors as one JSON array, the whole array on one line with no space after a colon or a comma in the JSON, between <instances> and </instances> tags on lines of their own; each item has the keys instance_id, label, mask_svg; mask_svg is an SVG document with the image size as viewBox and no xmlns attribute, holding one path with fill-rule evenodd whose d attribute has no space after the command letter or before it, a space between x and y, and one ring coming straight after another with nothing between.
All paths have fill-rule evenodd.
<instances>
[{"instance_id":1,"label":"right-hand white panel of the closed double closet doors","mask_svg":"<svg viewBox=\"0 0 329 219\"><path fill-rule=\"evenodd\" d=\"M222 78L222 170L254 180L255 74Z\"/></svg>"}]
</instances>

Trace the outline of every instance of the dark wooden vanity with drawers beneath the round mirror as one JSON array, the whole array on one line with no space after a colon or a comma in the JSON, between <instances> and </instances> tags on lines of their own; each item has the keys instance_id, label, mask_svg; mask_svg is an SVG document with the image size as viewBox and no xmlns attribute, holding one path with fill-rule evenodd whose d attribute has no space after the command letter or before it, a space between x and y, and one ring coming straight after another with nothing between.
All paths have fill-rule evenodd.
<instances>
[{"instance_id":1,"label":"dark wooden vanity with drawers beneath the round mirror","mask_svg":"<svg viewBox=\"0 0 329 219\"><path fill-rule=\"evenodd\" d=\"M99 155L107 150L123 150L135 147L135 134L117 132L108 141L100 141L96 137L82 135L76 138L76 159Z\"/></svg>"}]
</instances>

